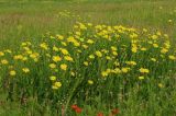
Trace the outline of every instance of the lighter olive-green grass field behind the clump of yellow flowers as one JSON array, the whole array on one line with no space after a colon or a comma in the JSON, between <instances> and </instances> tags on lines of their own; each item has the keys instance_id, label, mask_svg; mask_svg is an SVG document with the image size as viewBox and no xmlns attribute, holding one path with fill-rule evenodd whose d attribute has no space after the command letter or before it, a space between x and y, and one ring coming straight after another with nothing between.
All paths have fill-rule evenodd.
<instances>
[{"instance_id":1,"label":"lighter olive-green grass field behind the clump of yellow flowers","mask_svg":"<svg viewBox=\"0 0 176 116\"><path fill-rule=\"evenodd\" d=\"M134 1L130 2L2 2L0 3L0 45L16 46L23 39L37 39L42 34L65 33L76 19L56 16L67 10L80 15L84 21L94 24L122 24L134 27L162 30L175 36L176 2L173 1ZM163 7L161 10L160 7ZM91 8L91 9L90 9ZM173 12L173 14L170 14ZM90 15L90 16L88 16ZM69 26L70 25L70 26Z\"/></svg>"}]
</instances>

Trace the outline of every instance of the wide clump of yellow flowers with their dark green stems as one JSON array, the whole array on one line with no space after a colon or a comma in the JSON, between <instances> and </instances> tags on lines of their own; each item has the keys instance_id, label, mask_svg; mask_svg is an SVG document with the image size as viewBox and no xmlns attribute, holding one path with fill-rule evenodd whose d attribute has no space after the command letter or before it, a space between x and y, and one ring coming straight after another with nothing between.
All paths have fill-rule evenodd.
<instances>
[{"instance_id":1,"label":"wide clump of yellow flowers with their dark green stems","mask_svg":"<svg viewBox=\"0 0 176 116\"><path fill-rule=\"evenodd\" d=\"M0 50L0 77L38 98L62 100L79 90L85 97L106 89L113 93L118 85L128 89L150 79L162 89L158 77L174 72L175 66L176 49L167 34L122 25L77 22L67 35L47 33L37 45L23 42L16 51Z\"/></svg>"}]
</instances>

